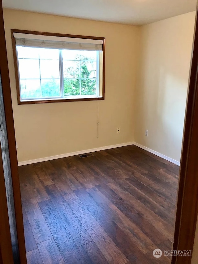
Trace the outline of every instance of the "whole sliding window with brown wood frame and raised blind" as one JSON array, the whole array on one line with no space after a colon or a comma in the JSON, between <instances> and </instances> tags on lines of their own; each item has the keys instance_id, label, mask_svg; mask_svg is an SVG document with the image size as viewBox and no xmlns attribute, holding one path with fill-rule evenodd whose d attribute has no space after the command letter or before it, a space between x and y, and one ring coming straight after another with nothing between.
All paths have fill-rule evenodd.
<instances>
[{"instance_id":1,"label":"whole sliding window with brown wood frame and raised blind","mask_svg":"<svg viewBox=\"0 0 198 264\"><path fill-rule=\"evenodd\" d=\"M104 38L12 33L18 104L104 99Z\"/></svg>"}]
</instances>

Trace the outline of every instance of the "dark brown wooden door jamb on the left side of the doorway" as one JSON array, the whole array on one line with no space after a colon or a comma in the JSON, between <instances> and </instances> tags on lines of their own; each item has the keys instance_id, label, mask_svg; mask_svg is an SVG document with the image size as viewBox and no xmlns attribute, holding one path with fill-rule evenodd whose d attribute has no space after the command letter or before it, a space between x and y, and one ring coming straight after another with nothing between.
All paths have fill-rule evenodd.
<instances>
[{"instance_id":1,"label":"dark brown wooden door jamb on the left side of the doorway","mask_svg":"<svg viewBox=\"0 0 198 264\"><path fill-rule=\"evenodd\" d=\"M13 111L12 111L12 101L11 101L10 78L8 71L6 39L5 39L4 22L3 22L2 0L0 0L0 58L1 58L0 73L1 73L5 118L6 118L7 138L8 138L8 146L9 146L8 148L9 148L9 156L10 156L10 164L11 164L19 255L20 255L21 263L25 264L27 263L27 261L26 261L26 253L25 253L24 227L23 227L22 205L21 205L20 185L19 185L19 176L18 176L18 162L17 162L15 130L14 130L14 120L13 120ZM4 182L4 186L5 186L5 182ZM3 195L2 188L3 186L0 186L1 195ZM7 226L6 222L8 219L5 218L4 220L5 220L5 225ZM10 254L12 255L12 252L10 252ZM10 264L12 262L4 262L4 263Z\"/></svg>"}]
</instances>

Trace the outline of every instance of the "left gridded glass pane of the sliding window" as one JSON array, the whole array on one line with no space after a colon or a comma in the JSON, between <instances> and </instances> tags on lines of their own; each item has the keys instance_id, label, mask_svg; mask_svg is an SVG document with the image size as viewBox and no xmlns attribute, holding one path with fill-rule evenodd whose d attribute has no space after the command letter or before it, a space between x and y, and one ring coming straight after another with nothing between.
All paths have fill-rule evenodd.
<instances>
[{"instance_id":1,"label":"left gridded glass pane of the sliding window","mask_svg":"<svg viewBox=\"0 0 198 264\"><path fill-rule=\"evenodd\" d=\"M59 50L17 47L22 99L60 97Z\"/></svg>"}]
</instances>

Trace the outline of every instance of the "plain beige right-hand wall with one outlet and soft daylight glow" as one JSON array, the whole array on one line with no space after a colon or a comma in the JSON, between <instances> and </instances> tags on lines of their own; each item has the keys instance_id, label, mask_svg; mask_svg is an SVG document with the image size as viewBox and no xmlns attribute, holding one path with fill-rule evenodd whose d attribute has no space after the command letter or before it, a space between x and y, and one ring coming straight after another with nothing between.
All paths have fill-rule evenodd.
<instances>
[{"instance_id":1,"label":"plain beige right-hand wall with one outlet and soft daylight glow","mask_svg":"<svg viewBox=\"0 0 198 264\"><path fill-rule=\"evenodd\" d=\"M194 23L191 12L141 27L135 141L176 161L181 155Z\"/></svg>"}]
</instances>

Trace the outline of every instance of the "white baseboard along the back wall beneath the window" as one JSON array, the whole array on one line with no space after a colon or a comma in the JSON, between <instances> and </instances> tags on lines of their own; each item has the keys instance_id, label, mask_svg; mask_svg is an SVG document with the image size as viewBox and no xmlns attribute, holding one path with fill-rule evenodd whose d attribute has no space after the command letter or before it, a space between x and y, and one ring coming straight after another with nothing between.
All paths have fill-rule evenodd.
<instances>
[{"instance_id":1,"label":"white baseboard along the back wall beneath the window","mask_svg":"<svg viewBox=\"0 0 198 264\"><path fill-rule=\"evenodd\" d=\"M32 159L32 160L21 161L21 162L18 162L18 165L22 166L22 165L27 165L27 164L32 164L32 163L37 163L37 162L42 162L42 161L48 161L48 160L57 159L57 158L65 158L65 157L70 157L70 156L75 156L75 155L81 155L81 154L95 152L95 151L99 151L99 150L113 149L113 148L118 148L118 147L123 147L123 146L129 146L129 145L133 145L133 144L134 144L134 142L127 142L127 143L121 143L121 144L116 144L116 145L99 147L99 148L95 148L95 149L86 149L86 150L81 150L81 151L75 151L75 152L70 152L70 153L56 155L56 156L50 156L50 157L46 157L46 158L37 158L37 159Z\"/></svg>"}]
</instances>

